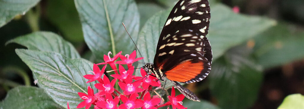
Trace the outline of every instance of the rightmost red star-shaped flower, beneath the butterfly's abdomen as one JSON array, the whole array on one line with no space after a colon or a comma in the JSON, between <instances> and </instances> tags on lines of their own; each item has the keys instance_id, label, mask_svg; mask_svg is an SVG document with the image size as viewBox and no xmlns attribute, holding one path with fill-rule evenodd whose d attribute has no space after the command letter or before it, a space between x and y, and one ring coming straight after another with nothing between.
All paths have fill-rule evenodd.
<instances>
[{"instance_id":1,"label":"rightmost red star-shaped flower, beneath the butterfly's abdomen","mask_svg":"<svg viewBox=\"0 0 304 109\"><path fill-rule=\"evenodd\" d=\"M173 86L172 86L172 90L171 90L171 96L169 95L168 98L171 102L173 109L176 109L176 108L185 109L185 107L182 105L183 104L182 100L185 98L185 96L183 94L180 94L175 97L175 89Z\"/></svg>"}]
</instances>

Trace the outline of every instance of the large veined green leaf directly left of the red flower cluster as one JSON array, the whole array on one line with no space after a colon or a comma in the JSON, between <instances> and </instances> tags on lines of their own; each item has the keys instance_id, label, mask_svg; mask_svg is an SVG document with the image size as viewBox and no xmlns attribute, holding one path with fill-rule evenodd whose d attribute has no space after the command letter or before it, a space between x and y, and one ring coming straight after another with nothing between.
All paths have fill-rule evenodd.
<instances>
[{"instance_id":1,"label":"large veined green leaf directly left of the red flower cluster","mask_svg":"<svg viewBox=\"0 0 304 109\"><path fill-rule=\"evenodd\" d=\"M76 107L81 101L78 92L87 93L90 86L96 82L88 81L83 76L92 71L93 63L84 59L70 59L59 53L41 52L26 49L16 49L17 55L33 71L38 85L58 104L67 107Z\"/></svg>"}]
</instances>

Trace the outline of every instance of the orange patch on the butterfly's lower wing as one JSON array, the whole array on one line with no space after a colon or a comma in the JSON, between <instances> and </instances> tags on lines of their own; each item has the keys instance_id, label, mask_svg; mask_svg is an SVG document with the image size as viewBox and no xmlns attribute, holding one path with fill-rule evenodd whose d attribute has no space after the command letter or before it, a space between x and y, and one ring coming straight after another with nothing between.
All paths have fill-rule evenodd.
<instances>
[{"instance_id":1,"label":"orange patch on the butterfly's lower wing","mask_svg":"<svg viewBox=\"0 0 304 109\"><path fill-rule=\"evenodd\" d=\"M204 63L202 61L198 63L191 63L191 61L186 61L175 66L165 74L169 80L187 82L188 80L191 80L199 75L203 69Z\"/></svg>"}]
</instances>

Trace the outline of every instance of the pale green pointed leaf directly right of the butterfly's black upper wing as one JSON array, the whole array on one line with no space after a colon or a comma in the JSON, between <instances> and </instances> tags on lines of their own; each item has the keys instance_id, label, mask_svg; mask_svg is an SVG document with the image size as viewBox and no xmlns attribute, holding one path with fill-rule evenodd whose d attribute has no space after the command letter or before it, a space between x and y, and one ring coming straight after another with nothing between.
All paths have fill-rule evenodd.
<instances>
[{"instance_id":1,"label":"pale green pointed leaf directly right of the butterfly's black upper wing","mask_svg":"<svg viewBox=\"0 0 304 109\"><path fill-rule=\"evenodd\" d=\"M211 5L211 19L208 39L213 59L220 57L233 46L274 26L276 22L267 18L233 13L221 4Z\"/></svg>"}]
</instances>

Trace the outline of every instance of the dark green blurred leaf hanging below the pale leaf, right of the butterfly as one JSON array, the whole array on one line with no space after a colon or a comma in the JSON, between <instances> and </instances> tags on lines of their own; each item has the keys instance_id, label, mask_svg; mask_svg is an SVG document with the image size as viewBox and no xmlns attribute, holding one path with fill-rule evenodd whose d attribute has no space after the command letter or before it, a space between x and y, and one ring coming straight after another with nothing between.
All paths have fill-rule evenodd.
<instances>
[{"instance_id":1,"label":"dark green blurred leaf hanging below the pale leaf, right of the butterfly","mask_svg":"<svg viewBox=\"0 0 304 109\"><path fill-rule=\"evenodd\" d=\"M212 63L209 85L219 107L245 109L257 99L263 75L251 52L246 46L237 46Z\"/></svg>"}]
</instances>

